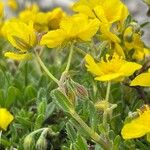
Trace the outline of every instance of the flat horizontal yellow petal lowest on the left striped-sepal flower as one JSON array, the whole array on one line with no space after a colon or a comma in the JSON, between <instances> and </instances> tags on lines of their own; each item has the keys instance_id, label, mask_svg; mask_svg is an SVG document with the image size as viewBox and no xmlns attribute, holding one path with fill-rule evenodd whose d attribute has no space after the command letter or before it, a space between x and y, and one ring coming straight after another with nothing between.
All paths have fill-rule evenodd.
<instances>
[{"instance_id":1,"label":"flat horizontal yellow petal lowest on the left striped-sepal flower","mask_svg":"<svg viewBox=\"0 0 150 150\"><path fill-rule=\"evenodd\" d=\"M13 53L13 52L6 52L4 54L4 56L8 57L10 59L18 60L18 61L29 60L29 59L32 58L32 55L29 54L29 53L26 53L26 54L17 54L17 53Z\"/></svg>"}]
</instances>

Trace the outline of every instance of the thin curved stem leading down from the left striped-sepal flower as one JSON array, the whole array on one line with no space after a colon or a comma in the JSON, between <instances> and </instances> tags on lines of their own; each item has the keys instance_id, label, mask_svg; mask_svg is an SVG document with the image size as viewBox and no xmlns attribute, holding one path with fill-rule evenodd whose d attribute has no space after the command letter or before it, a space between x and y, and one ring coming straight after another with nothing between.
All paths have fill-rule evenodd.
<instances>
[{"instance_id":1,"label":"thin curved stem leading down from the left striped-sepal flower","mask_svg":"<svg viewBox=\"0 0 150 150\"><path fill-rule=\"evenodd\" d=\"M38 63L40 64L40 66L42 67L42 69L46 72L46 74L55 82L59 85L59 81L58 79L56 79L52 73L47 69L47 67L45 66L45 64L43 63L43 61L41 60L41 58L39 57L39 55L37 54L37 52L35 52L35 56L36 59L38 61Z\"/></svg>"}]
</instances>

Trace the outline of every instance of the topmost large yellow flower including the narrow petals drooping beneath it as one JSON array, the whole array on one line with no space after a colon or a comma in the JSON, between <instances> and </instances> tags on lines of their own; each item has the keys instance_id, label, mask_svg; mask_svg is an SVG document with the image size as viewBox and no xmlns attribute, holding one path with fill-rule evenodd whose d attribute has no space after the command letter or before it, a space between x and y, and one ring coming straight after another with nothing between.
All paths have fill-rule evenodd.
<instances>
[{"instance_id":1,"label":"topmost large yellow flower including the narrow petals drooping beneath it","mask_svg":"<svg viewBox=\"0 0 150 150\"><path fill-rule=\"evenodd\" d=\"M86 14L90 18L98 18L102 40L115 44L115 52L125 57L123 49L119 46L121 40L112 31L114 28L112 24L118 23L118 26L122 27L129 14L127 7L120 0L80 0L74 3L72 9ZM117 30L119 29L117 28Z\"/></svg>"}]
</instances>

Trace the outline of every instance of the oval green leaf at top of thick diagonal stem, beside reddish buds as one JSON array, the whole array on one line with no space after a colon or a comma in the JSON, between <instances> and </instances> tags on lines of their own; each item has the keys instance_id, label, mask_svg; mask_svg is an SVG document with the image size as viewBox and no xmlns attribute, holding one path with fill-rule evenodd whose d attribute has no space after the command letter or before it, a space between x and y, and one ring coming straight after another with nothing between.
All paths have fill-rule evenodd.
<instances>
[{"instance_id":1,"label":"oval green leaf at top of thick diagonal stem, beside reddish buds","mask_svg":"<svg viewBox=\"0 0 150 150\"><path fill-rule=\"evenodd\" d=\"M51 96L55 100L56 104L65 112L69 112L71 109L74 109L69 99L59 89L53 90L51 92Z\"/></svg>"}]
</instances>

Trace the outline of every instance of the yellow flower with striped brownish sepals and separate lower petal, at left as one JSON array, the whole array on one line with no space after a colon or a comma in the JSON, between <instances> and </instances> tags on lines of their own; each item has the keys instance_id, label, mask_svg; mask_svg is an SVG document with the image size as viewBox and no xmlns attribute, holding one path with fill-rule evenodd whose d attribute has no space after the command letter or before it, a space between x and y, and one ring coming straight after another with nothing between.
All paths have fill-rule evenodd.
<instances>
[{"instance_id":1,"label":"yellow flower with striped brownish sepals and separate lower petal, at left","mask_svg":"<svg viewBox=\"0 0 150 150\"><path fill-rule=\"evenodd\" d=\"M29 58L29 56L27 57L27 55L30 55L28 50L36 44L36 34L32 22L25 24L18 19L12 19L5 22L2 32L6 39L18 49L18 55L13 52L7 52L6 57L16 60Z\"/></svg>"}]
</instances>

